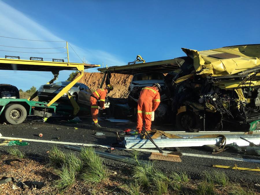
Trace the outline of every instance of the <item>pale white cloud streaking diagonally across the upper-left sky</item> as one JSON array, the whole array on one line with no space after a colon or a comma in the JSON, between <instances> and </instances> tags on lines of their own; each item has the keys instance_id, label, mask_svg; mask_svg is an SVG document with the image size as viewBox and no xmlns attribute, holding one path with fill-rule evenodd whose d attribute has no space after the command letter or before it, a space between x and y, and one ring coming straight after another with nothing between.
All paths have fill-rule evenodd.
<instances>
[{"instance_id":1,"label":"pale white cloud streaking diagonally across the upper-left sky","mask_svg":"<svg viewBox=\"0 0 260 195\"><path fill-rule=\"evenodd\" d=\"M10 5L0 1L0 36L23 38L31 40L50 40L50 41L64 41L63 38L55 36L51 31L36 23L33 19L27 17L22 12L12 8ZM75 35L76 36L76 35ZM15 47L66 47L65 42L38 42L38 41L25 41L17 39L9 39L0 37L0 45L15 46ZM108 66L120 66L125 65L126 62L120 60L120 57L102 50L93 50L90 48L77 47L73 43L70 43L73 49L77 52L81 59L85 57L85 60L89 64L101 64ZM69 48L70 62L80 62L77 55L72 49ZM20 57L43 57L43 58L59 58L66 57L66 48L62 49L21 49L1 47L0 56L12 55ZM14 53L7 51L23 51L23 52L53 52L55 54L33 54L33 53ZM51 59L50 59L51 60ZM66 59L65 59L66 60ZM96 69L88 69L88 72L96 72ZM8 73L10 76L6 75ZM8 83L17 86L18 88L28 89L32 85L39 87L40 85L49 81L52 77L51 73L39 74L42 72L35 71L4 71L0 70L0 83ZM69 75L69 71L62 71L59 76L59 80L66 80ZM3 76L5 75L5 77ZM36 76L37 75L37 76ZM1 76L3 76L1 78Z\"/></svg>"}]
</instances>

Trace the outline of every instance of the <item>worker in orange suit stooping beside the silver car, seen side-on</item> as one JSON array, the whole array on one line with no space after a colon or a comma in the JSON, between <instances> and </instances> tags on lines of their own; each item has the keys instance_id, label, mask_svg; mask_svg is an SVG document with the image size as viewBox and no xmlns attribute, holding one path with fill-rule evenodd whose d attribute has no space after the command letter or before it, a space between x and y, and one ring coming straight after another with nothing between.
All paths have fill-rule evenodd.
<instances>
[{"instance_id":1,"label":"worker in orange suit stooping beside the silver car, seen side-on","mask_svg":"<svg viewBox=\"0 0 260 195\"><path fill-rule=\"evenodd\" d=\"M113 86L108 84L105 89L97 89L90 95L91 115L95 127L101 127L98 123L99 107L105 109L105 98L111 90L113 90Z\"/></svg>"}]
</instances>

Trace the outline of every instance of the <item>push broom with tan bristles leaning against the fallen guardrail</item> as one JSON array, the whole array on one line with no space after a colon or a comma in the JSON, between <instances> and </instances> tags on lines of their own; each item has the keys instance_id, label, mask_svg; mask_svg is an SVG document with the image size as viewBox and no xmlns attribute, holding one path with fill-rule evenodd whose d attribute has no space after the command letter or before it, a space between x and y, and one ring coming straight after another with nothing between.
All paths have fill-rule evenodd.
<instances>
[{"instance_id":1,"label":"push broom with tan bristles leaning against the fallen guardrail","mask_svg":"<svg viewBox=\"0 0 260 195\"><path fill-rule=\"evenodd\" d=\"M154 145L155 147L157 148L157 150L160 152L160 153L157 153L157 152L152 152L151 156L149 157L149 159L151 160L162 160L162 161L171 161L171 162L181 162L181 158L179 155L174 155L174 154L167 154L167 153L164 153L161 148L159 148L159 146L157 146L155 144L155 142L153 141L151 135L149 135L149 133L146 131L146 129L143 127L144 130L142 130L142 133L146 136L146 138L148 140L150 140Z\"/></svg>"}]
</instances>

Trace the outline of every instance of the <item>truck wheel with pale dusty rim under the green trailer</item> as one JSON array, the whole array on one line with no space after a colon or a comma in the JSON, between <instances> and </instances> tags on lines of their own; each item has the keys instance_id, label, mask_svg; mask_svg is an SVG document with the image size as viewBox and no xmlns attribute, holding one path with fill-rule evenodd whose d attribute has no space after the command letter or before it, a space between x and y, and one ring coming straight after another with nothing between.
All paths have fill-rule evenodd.
<instances>
[{"instance_id":1,"label":"truck wheel with pale dusty rim under the green trailer","mask_svg":"<svg viewBox=\"0 0 260 195\"><path fill-rule=\"evenodd\" d=\"M12 104L5 109L5 120L12 125L22 123L26 117L27 111L20 104Z\"/></svg>"}]
</instances>

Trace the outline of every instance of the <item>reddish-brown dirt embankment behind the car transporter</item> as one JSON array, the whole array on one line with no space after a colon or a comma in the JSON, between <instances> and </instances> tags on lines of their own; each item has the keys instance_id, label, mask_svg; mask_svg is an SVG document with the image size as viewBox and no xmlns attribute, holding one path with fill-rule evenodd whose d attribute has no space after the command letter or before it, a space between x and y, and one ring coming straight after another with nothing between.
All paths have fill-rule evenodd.
<instances>
[{"instance_id":1,"label":"reddish-brown dirt embankment behind the car transporter","mask_svg":"<svg viewBox=\"0 0 260 195\"><path fill-rule=\"evenodd\" d=\"M112 73L110 83L113 85L114 90L109 93L109 96L113 98L126 98L128 96L128 86L132 77L132 75ZM84 76L78 82L84 83L94 91L99 88L102 78L102 73L84 73ZM104 87L105 86L103 85L103 88Z\"/></svg>"}]
</instances>

